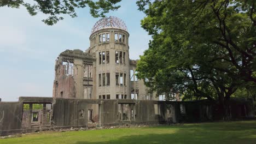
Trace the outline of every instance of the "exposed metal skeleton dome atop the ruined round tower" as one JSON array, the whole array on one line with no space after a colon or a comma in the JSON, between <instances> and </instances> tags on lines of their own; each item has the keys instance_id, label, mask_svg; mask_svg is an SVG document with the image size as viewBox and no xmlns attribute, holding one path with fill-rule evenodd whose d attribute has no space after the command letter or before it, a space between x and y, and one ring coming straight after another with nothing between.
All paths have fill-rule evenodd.
<instances>
[{"instance_id":1,"label":"exposed metal skeleton dome atop the ruined round tower","mask_svg":"<svg viewBox=\"0 0 256 144\"><path fill-rule=\"evenodd\" d=\"M98 20L95 23L94 27L92 27L91 33L94 33L103 28L113 28L113 27L124 29L125 31L127 31L127 27L123 20L121 20L115 16L109 16L109 17L104 17L104 18Z\"/></svg>"}]
</instances>

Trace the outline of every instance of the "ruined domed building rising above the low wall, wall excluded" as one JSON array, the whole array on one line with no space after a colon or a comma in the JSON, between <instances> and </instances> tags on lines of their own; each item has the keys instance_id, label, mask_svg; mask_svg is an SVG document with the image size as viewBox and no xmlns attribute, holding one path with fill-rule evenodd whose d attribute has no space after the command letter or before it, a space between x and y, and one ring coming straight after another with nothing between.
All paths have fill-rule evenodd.
<instances>
[{"instance_id":1,"label":"ruined domed building rising above the low wall, wall excluded","mask_svg":"<svg viewBox=\"0 0 256 144\"><path fill-rule=\"evenodd\" d=\"M79 99L154 100L129 58L129 33L125 23L110 16L92 27L90 47L66 50L55 65L53 97Z\"/></svg>"}]
</instances>

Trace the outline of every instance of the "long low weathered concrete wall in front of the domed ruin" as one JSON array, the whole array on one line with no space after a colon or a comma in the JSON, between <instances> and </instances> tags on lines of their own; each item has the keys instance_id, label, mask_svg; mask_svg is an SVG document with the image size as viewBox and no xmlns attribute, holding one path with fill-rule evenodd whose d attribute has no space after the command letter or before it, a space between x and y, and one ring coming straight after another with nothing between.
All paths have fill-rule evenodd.
<instances>
[{"instance_id":1,"label":"long low weathered concrete wall in front of the domed ruin","mask_svg":"<svg viewBox=\"0 0 256 144\"><path fill-rule=\"evenodd\" d=\"M155 101L40 97L20 97L19 100L15 103L0 103L0 135L71 127L95 127L96 125L205 122L219 119L218 103L208 100ZM43 121L37 123L30 121L32 117L28 113L35 111L32 110L33 103L44 105ZM53 110L46 111L45 104L51 103ZM23 112L23 119L22 104L30 104L30 110ZM230 107L232 119L254 117L252 100L231 99L227 104ZM53 113L50 114L50 121L46 123L45 114L51 111ZM24 127L21 125L22 121L25 123Z\"/></svg>"}]
</instances>

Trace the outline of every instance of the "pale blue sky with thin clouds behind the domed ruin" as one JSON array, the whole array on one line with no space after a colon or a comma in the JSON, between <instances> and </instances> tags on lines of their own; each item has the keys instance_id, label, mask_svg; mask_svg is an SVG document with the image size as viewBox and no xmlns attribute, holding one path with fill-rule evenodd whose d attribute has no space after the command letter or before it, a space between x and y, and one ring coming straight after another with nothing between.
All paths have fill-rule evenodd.
<instances>
[{"instance_id":1,"label":"pale blue sky with thin clouds behind the domed ruin","mask_svg":"<svg viewBox=\"0 0 256 144\"><path fill-rule=\"evenodd\" d=\"M124 0L121 8L108 16L122 19L130 33L130 59L138 59L148 48L150 36L141 28L145 16L136 1ZM85 51L89 47L91 28L100 18L89 9L78 9L78 17L64 16L63 21L47 26L46 16L30 16L25 8L0 8L0 98L18 101L21 96L52 97L54 62L66 49Z\"/></svg>"}]
</instances>

